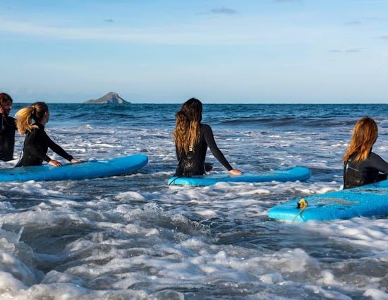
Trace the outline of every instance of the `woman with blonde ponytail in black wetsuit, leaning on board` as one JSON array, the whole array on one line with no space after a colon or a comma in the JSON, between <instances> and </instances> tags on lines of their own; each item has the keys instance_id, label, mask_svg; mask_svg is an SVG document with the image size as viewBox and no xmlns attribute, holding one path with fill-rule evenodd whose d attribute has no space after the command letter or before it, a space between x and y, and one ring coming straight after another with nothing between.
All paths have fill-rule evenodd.
<instances>
[{"instance_id":1,"label":"woman with blonde ponytail in black wetsuit, leaning on board","mask_svg":"<svg viewBox=\"0 0 388 300\"><path fill-rule=\"evenodd\" d=\"M16 117L18 118L16 120L18 131L22 136L27 133L27 136L25 136L24 140L23 157L15 167L38 166L43 161L53 166L61 166L61 162L51 160L47 156L48 148L69 162L80 162L79 160L75 160L73 156L69 155L68 152L63 150L59 145L56 145L47 136L46 131L44 131L44 126L49 121L49 116L49 107L44 102L35 102L31 106L20 109L16 113ZM35 121L34 124L32 124L32 119Z\"/></svg>"}]
</instances>

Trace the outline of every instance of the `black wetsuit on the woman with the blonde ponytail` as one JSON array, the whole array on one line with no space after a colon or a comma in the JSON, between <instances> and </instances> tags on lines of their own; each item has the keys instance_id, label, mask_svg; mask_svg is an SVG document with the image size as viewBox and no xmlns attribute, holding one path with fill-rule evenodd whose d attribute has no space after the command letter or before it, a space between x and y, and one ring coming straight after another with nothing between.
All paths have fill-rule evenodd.
<instances>
[{"instance_id":1,"label":"black wetsuit on the woman with the blonde ponytail","mask_svg":"<svg viewBox=\"0 0 388 300\"><path fill-rule=\"evenodd\" d=\"M73 159L68 152L63 150L61 146L56 145L56 143L47 136L42 124L36 125L39 128L34 128L31 132L27 133L24 140L23 157L15 167L39 166L43 161L49 162L51 160L51 158L47 156L47 150L49 148L68 161Z\"/></svg>"}]
</instances>

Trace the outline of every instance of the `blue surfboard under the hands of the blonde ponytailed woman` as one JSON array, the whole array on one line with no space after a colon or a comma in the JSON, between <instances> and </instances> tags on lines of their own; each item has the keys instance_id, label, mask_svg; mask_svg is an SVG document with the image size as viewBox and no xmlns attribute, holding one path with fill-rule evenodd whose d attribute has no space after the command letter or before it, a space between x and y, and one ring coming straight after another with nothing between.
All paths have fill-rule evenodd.
<instances>
[{"instance_id":1,"label":"blue surfboard under the hands of the blonde ponytailed woman","mask_svg":"<svg viewBox=\"0 0 388 300\"><path fill-rule=\"evenodd\" d=\"M111 160L91 160L54 167L50 164L34 167L0 169L0 181L80 180L125 175L144 167L147 155L130 155Z\"/></svg>"}]
</instances>

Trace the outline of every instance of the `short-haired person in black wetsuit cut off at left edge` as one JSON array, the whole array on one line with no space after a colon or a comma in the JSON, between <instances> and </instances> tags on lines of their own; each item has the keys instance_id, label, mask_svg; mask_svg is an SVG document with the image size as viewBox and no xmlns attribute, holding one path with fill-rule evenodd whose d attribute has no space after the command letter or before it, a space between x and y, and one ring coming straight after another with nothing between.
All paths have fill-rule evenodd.
<instances>
[{"instance_id":1,"label":"short-haired person in black wetsuit cut off at left edge","mask_svg":"<svg viewBox=\"0 0 388 300\"><path fill-rule=\"evenodd\" d=\"M9 116L13 100L5 92L0 93L0 160L13 160L15 148L16 119Z\"/></svg>"}]
</instances>

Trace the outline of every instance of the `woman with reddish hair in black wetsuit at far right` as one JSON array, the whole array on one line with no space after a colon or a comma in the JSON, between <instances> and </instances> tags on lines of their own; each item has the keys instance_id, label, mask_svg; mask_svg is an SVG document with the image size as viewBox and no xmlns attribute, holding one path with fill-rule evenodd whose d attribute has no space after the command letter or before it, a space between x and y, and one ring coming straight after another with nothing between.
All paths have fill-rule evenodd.
<instances>
[{"instance_id":1,"label":"woman with reddish hair in black wetsuit at far right","mask_svg":"<svg viewBox=\"0 0 388 300\"><path fill-rule=\"evenodd\" d=\"M372 152L377 132L376 122L368 116L363 116L354 126L353 136L342 159L344 189L387 179L388 163Z\"/></svg>"}]
</instances>

